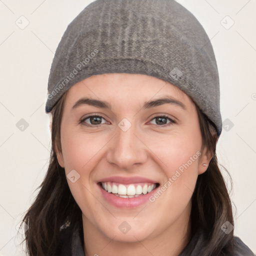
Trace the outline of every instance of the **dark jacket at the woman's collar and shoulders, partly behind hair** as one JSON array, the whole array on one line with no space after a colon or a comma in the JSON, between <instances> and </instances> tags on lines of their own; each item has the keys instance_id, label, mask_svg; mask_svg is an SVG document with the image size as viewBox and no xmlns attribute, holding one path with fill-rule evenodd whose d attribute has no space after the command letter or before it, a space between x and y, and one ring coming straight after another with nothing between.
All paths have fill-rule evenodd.
<instances>
[{"instance_id":1,"label":"dark jacket at the woman's collar and shoulders, partly behind hair","mask_svg":"<svg viewBox=\"0 0 256 256\"><path fill-rule=\"evenodd\" d=\"M202 249L202 245L206 240L205 237L203 232L197 230L179 256L210 256L204 254ZM219 256L255 256L240 238L234 236L234 240L234 252L223 249ZM70 231L70 227L61 230L58 254L56 256L84 256L82 228L76 228L74 232Z\"/></svg>"}]
</instances>

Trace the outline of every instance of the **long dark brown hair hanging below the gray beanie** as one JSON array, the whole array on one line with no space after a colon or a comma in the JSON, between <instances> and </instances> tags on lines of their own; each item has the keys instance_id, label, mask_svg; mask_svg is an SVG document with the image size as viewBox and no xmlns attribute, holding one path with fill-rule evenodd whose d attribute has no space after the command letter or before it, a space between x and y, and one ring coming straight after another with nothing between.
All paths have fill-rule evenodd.
<instances>
[{"instance_id":1,"label":"long dark brown hair hanging below the gray beanie","mask_svg":"<svg viewBox=\"0 0 256 256\"><path fill-rule=\"evenodd\" d=\"M29 256L53 256L57 254L60 230L69 225L71 231L82 228L81 210L75 202L62 168L56 157L61 151L60 123L66 92L55 104L52 113L51 152L49 167L42 183L36 189L39 192L29 209L25 212L23 223L28 225L25 231L26 252ZM229 234L221 230L225 221L233 224L232 206L225 181L216 157L216 134L210 132L211 122L198 109L202 146L213 153L207 170L200 174L191 198L191 232L201 228L207 239L203 255L222 255L225 248L233 247L233 231ZM21 226L20 226L21 228ZM22 241L22 242L23 242ZM198 254L198 256L201 254Z\"/></svg>"}]
</instances>

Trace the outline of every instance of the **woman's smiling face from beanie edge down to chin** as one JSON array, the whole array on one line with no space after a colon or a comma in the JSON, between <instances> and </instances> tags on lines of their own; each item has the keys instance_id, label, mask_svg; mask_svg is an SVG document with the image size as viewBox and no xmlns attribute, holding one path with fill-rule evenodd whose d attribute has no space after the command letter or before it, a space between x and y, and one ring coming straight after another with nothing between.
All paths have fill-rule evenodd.
<instances>
[{"instance_id":1,"label":"woman's smiling face from beanie edge down to chin","mask_svg":"<svg viewBox=\"0 0 256 256\"><path fill-rule=\"evenodd\" d=\"M183 91L143 74L88 77L68 90L60 133L58 162L90 234L137 241L186 229L209 160Z\"/></svg>"}]
</instances>

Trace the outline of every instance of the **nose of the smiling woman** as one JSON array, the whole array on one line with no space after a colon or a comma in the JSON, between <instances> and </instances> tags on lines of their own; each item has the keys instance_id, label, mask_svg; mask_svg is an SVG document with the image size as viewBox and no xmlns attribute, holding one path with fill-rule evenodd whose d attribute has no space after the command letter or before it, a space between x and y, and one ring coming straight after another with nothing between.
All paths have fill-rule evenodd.
<instances>
[{"instance_id":1,"label":"nose of the smiling woman","mask_svg":"<svg viewBox=\"0 0 256 256\"><path fill-rule=\"evenodd\" d=\"M106 159L109 163L115 164L120 169L129 170L135 164L142 164L147 159L146 146L143 139L131 125L126 131L119 126L116 128L116 134L111 139L107 151Z\"/></svg>"}]
</instances>

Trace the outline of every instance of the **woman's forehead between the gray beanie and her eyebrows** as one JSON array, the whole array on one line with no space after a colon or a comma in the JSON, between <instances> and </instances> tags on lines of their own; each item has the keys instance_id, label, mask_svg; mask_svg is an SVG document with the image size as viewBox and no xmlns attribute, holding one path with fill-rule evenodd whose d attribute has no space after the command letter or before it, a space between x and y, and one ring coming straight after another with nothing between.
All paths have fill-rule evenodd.
<instances>
[{"instance_id":1,"label":"woman's forehead between the gray beanie and her eyebrows","mask_svg":"<svg viewBox=\"0 0 256 256\"><path fill-rule=\"evenodd\" d=\"M72 107L79 98L86 96L103 99L110 105L141 105L149 99L171 96L188 108L191 98L177 86L145 74L107 73L90 76L68 89L65 105Z\"/></svg>"}]
</instances>

